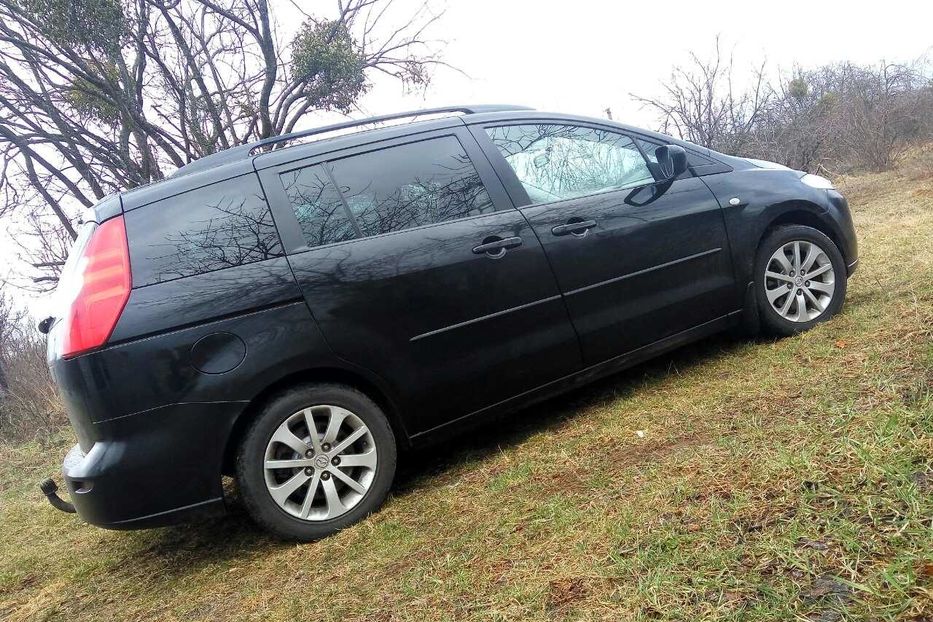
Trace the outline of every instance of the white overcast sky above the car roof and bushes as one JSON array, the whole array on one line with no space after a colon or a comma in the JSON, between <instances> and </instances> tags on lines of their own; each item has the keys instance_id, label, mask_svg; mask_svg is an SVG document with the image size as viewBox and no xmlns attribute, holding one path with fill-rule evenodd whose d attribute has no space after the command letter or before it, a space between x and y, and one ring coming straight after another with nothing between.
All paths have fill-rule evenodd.
<instances>
[{"instance_id":1,"label":"white overcast sky above the car roof and bushes","mask_svg":"<svg viewBox=\"0 0 933 622\"><path fill-rule=\"evenodd\" d=\"M271 0L290 39L300 16L286 0ZM396 16L421 0L396 0ZM304 4L304 3L302 3ZM321 2L317 4L323 4ZM437 7L444 7L442 0ZM716 35L734 56L736 75L767 60L772 71L795 64L812 67L910 61L933 48L933 0L872 3L819 0L764 2L597 2L572 0L450 0L432 36L446 41L443 59L460 69L439 69L425 94L402 93L377 82L361 102L380 114L447 104L514 103L542 110L603 116L656 127L631 93L653 96L675 65L695 51L706 57ZM291 15L290 15L291 13ZM294 19L293 19L294 17ZM466 75L464 75L466 74ZM309 118L314 125L320 117ZM15 261L0 236L0 268ZM45 305L32 301L34 313Z\"/></svg>"}]
</instances>

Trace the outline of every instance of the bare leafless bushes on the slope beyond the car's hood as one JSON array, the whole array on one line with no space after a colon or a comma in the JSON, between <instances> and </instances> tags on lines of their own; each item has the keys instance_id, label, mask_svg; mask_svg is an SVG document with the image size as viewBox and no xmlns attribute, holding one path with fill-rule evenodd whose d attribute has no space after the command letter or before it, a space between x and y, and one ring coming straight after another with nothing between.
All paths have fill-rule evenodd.
<instances>
[{"instance_id":1,"label":"bare leafless bushes on the slope beyond the car's hood","mask_svg":"<svg viewBox=\"0 0 933 622\"><path fill-rule=\"evenodd\" d=\"M933 70L909 64L838 63L796 69L775 83L757 65L740 89L719 41L674 69L664 94L637 97L661 130L711 149L810 172L881 171L933 140Z\"/></svg>"}]
</instances>

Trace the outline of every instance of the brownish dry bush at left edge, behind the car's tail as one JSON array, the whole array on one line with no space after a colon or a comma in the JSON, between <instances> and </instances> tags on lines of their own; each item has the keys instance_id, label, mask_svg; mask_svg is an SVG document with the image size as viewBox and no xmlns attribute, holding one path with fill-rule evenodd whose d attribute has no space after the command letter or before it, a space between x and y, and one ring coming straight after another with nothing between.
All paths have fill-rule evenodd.
<instances>
[{"instance_id":1,"label":"brownish dry bush at left edge, behind the car's tail","mask_svg":"<svg viewBox=\"0 0 933 622\"><path fill-rule=\"evenodd\" d=\"M67 423L45 361L45 340L0 292L0 441L45 441Z\"/></svg>"}]
</instances>

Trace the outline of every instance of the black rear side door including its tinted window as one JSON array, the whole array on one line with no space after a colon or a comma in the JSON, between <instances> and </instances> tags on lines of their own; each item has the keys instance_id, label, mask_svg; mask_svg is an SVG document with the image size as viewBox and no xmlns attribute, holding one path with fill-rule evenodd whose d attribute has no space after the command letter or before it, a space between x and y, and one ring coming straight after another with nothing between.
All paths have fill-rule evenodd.
<instances>
[{"instance_id":1,"label":"black rear side door including its tinted window","mask_svg":"<svg viewBox=\"0 0 933 622\"><path fill-rule=\"evenodd\" d=\"M581 367L544 250L466 128L256 167L302 233L288 258L325 339L391 386L410 434Z\"/></svg>"}]
</instances>

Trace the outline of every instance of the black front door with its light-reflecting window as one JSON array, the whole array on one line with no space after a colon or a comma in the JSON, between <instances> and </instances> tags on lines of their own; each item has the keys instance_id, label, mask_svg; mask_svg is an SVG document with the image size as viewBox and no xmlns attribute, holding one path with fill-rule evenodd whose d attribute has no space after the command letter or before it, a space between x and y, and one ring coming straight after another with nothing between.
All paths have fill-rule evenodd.
<instances>
[{"instance_id":1,"label":"black front door with its light-reflecting window","mask_svg":"<svg viewBox=\"0 0 933 622\"><path fill-rule=\"evenodd\" d=\"M472 128L544 246L592 365L734 310L719 204L655 183L625 133L533 121Z\"/></svg>"}]
</instances>

